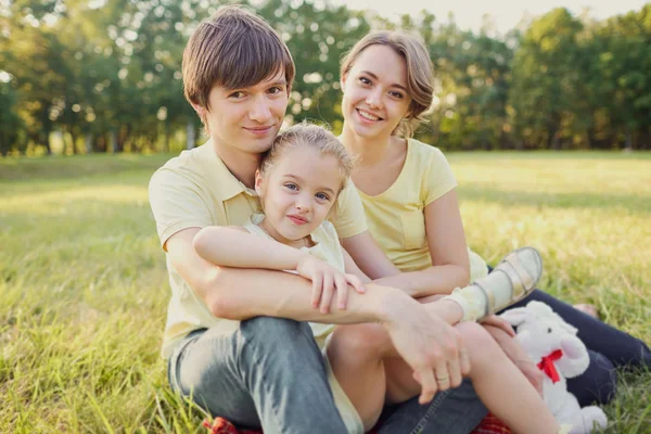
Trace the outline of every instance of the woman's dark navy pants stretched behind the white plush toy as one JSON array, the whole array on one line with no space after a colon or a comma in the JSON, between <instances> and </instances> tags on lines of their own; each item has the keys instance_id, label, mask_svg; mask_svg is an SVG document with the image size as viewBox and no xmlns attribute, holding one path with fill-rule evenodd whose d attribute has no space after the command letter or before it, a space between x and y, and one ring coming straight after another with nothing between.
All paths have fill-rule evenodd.
<instances>
[{"instance_id":1,"label":"woman's dark navy pants stretched behind the white plush toy","mask_svg":"<svg viewBox=\"0 0 651 434\"><path fill-rule=\"evenodd\" d=\"M651 368L651 350L642 341L540 290L534 290L529 296L511 307L524 307L532 301L548 304L565 322L578 329L578 337L588 347L588 370L567 380L569 391L576 396L582 406L592 403L607 404L613 397L616 386L615 368Z\"/></svg>"}]
</instances>

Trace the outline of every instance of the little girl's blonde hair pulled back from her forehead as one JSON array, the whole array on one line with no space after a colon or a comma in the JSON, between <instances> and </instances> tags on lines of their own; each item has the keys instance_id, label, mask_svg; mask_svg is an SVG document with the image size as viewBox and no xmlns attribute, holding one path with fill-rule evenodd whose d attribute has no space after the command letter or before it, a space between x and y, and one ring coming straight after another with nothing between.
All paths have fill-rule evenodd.
<instances>
[{"instance_id":1,"label":"little girl's blonde hair pulled back from her forehead","mask_svg":"<svg viewBox=\"0 0 651 434\"><path fill-rule=\"evenodd\" d=\"M346 180L353 170L353 158L342 142L326 128L303 122L281 131L273 140L269 151L263 155L259 171L265 177L273 167L278 158L290 149L309 146L319 150L322 155L332 155L339 163L342 173L341 193Z\"/></svg>"}]
</instances>

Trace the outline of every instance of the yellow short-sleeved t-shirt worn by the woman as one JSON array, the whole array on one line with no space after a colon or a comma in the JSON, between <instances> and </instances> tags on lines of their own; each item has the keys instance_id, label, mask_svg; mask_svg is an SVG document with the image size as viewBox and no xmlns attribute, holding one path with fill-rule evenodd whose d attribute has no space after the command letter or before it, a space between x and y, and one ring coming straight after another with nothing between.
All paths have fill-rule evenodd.
<instances>
[{"instance_id":1,"label":"yellow short-sleeved t-shirt worn by the woman","mask_svg":"<svg viewBox=\"0 0 651 434\"><path fill-rule=\"evenodd\" d=\"M369 230L400 271L432 266L425 237L424 208L457 187L443 152L414 139L407 141L407 157L395 182L369 196L359 191ZM471 280L486 276L486 263L469 248Z\"/></svg>"}]
</instances>

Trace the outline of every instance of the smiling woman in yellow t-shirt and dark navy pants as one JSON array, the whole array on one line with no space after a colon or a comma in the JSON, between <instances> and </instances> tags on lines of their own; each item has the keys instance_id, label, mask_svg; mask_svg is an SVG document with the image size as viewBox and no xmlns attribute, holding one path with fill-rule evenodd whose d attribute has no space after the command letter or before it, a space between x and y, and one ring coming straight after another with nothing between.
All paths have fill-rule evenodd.
<instances>
[{"instance_id":1,"label":"smiling woman in yellow t-shirt and dark navy pants","mask_svg":"<svg viewBox=\"0 0 651 434\"><path fill-rule=\"evenodd\" d=\"M393 263L359 265L373 277L383 276L381 283L419 298L463 286L469 272L472 280L487 273L483 259L468 254L447 161L437 149L410 139L432 102L432 73L422 42L391 31L366 36L341 67L340 139L357 158L352 179L371 233ZM569 381L582 405L605 404L612 397L614 367L651 367L651 352L643 342L539 290L520 305L533 299L547 303L576 327L590 350L588 371ZM521 349L506 333L496 328L492 333L529 379L539 374L531 360L522 361Z\"/></svg>"}]
</instances>

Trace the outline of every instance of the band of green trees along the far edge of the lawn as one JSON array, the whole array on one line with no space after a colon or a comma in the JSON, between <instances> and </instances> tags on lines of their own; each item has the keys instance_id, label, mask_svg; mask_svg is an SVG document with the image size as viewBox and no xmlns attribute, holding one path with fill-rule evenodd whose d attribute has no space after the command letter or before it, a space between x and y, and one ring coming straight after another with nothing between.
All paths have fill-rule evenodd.
<instances>
[{"instance_id":1,"label":"band of green trees along the far edge of the lawn","mask_svg":"<svg viewBox=\"0 0 651 434\"><path fill-rule=\"evenodd\" d=\"M0 3L0 153L178 150L200 123L181 55L205 0ZM506 36L422 11L392 21L328 0L251 0L296 62L286 120L341 128L339 62L371 28L417 31L436 65L419 137L445 149L649 149L651 3L603 21L556 9Z\"/></svg>"}]
</instances>

